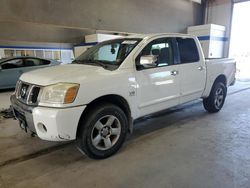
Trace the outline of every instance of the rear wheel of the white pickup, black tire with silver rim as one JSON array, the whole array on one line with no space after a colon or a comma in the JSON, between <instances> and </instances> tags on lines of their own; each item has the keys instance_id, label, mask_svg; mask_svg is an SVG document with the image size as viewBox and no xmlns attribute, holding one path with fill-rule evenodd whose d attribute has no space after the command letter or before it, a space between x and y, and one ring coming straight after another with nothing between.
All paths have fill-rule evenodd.
<instances>
[{"instance_id":1,"label":"rear wheel of the white pickup, black tire with silver rim","mask_svg":"<svg viewBox=\"0 0 250 188\"><path fill-rule=\"evenodd\" d=\"M215 82L208 98L203 99L203 106L209 113L221 110L227 96L227 88L222 82Z\"/></svg>"}]
</instances>

